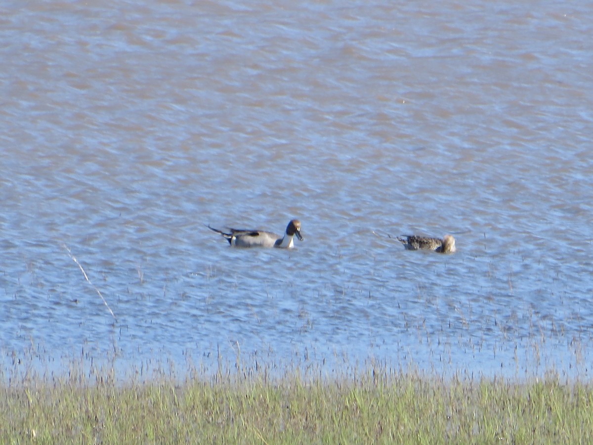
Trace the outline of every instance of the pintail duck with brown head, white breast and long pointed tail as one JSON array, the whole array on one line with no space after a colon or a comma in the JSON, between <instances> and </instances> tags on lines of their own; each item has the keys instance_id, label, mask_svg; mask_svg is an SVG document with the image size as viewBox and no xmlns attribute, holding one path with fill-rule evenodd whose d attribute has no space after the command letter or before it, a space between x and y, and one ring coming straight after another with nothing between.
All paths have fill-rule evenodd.
<instances>
[{"instance_id":1,"label":"pintail duck with brown head, white breast and long pointed tail","mask_svg":"<svg viewBox=\"0 0 593 445\"><path fill-rule=\"evenodd\" d=\"M264 230L228 227L228 231L222 231L211 227L209 224L206 227L224 236L233 247L279 247L281 249L292 249L294 247L294 241L292 240L294 236L297 236L300 241L303 240L301 236L301 222L299 220L291 220L288 223L282 238L275 233Z\"/></svg>"}]
</instances>

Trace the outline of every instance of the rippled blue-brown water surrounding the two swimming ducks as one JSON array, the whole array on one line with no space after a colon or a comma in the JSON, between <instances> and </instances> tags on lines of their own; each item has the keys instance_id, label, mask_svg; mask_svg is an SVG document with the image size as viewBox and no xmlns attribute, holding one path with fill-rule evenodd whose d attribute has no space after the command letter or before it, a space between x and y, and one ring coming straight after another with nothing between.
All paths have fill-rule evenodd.
<instances>
[{"instance_id":1,"label":"rippled blue-brown water surrounding the two swimming ducks","mask_svg":"<svg viewBox=\"0 0 593 445\"><path fill-rule=\"evenodd\" d=\"M8 372L242 355L589 376L589 2L0 9ZM203 225L291 218L289 252Z\"/></svg>"}]
</instances>

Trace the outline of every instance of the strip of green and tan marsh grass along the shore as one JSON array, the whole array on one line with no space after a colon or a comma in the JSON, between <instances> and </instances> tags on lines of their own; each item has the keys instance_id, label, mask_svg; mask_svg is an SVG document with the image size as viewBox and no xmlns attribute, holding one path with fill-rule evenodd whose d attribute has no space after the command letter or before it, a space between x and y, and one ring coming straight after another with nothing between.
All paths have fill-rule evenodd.
<instances>
[{"instance_id":1,"label":"strip of green and tan marsh grass along the shore","mask_svg":"<svg viewBox=\"0 0 593 445\"><path fill-rule=\"evenodd\" d=\"M75 369L75 367L74 367ZM373 367L343 377L258 371L180 382L69 376L0 383L0 443L589 443L593 388Z\"/></svg>"}]
</instances>

